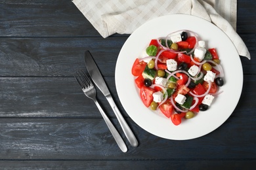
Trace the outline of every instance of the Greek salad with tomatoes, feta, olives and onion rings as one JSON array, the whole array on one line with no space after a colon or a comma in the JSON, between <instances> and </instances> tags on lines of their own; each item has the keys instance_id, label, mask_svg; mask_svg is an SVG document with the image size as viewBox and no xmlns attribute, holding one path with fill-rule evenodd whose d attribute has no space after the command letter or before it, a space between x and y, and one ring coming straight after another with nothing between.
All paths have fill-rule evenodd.
<instances>
[{"instance_id":1,"label":"Greek salad with tomatoes, feta, olives and onion rings","mask_svg":"<svg viewBox=\"0 0 256 170\"><path fill-rule=\"evenodd\" d=\"M217 49L189 30L152 39L131 73L142 103L176 126L209 109L224 84Z\"/></svg>"}]
</instances>

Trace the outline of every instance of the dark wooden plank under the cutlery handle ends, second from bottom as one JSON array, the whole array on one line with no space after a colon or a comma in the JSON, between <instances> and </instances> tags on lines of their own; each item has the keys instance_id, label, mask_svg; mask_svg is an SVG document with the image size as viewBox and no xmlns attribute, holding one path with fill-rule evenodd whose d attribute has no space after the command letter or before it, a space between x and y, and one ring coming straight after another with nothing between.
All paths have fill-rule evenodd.
<instances>
[{"instance_id":1,"label":"dark wooden plank under the cutlery handle ends, second from bottom","mask_svg":"<svg viewBox=\"0 0 256 170\"><path fill-rule=\"evenodd\" d=\"M0 160L256 160L256 116L229 118L186 141L161 139L128 123L139 146L127 144L124 154L99 118L1 118Z\"/></svg>"}]
</instances>

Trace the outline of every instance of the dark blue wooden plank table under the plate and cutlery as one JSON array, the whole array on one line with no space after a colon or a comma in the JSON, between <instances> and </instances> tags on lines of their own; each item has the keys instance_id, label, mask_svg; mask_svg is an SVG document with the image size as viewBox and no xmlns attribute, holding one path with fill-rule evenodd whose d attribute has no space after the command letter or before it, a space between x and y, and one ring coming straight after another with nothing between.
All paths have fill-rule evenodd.
<instances>
[{"instance_id":1,"label":"dark blue wooden plank table under the plate and cutlery","mask_svg":"<svg viewBox=\"0 0 256 170\"><path fill-rule=\"evenodd\" d=\"M114 73L129 35L100 37L70 0L0 1L0 169L252 169L256 163L256 1L238 0L244 88L226 122L188 141L140 128L119 102ZM91 50L139 147L119 150L73 77ZM232 64L232 61L230 61ZM234 84L234 91L236 84ZM98 99L117 129L106 99Z\"/></svg>"}]
</instances>

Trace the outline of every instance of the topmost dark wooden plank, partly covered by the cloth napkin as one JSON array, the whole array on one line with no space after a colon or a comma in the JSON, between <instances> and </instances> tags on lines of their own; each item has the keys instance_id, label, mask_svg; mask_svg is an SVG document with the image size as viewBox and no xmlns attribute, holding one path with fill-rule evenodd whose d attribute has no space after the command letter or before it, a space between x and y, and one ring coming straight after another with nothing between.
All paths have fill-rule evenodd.
<instances>
[{"instance_id":1,"label":"topmost dark wooden plank, partly covered by the cloth napkin","mask_svg":"<svg viewBox=\"0 0 256 170\"><path fill-rule=\"evenodd\" d=\"M0 37L100 37L70 0L1 0L0 11ZM238 1L238 33L255 33L254 11L255 1Z\"/></svg>"}]
</instances>

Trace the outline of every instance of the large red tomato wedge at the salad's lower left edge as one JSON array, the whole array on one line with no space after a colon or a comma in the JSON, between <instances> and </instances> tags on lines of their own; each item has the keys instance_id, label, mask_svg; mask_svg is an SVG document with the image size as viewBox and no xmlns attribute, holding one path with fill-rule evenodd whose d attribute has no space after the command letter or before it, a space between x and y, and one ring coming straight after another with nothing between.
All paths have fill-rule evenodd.
<instances>
[{"instance_id":1,"label":"large red tomato wedge at the salad's lower left edge","mask_svg":"<svg viewBox=\"0 0 256 170\"><path fill-rule=\"evenodd\" d=\"M153 93L156 92L153 88L142 86L140 88L140 98L146 107L150 107L150 103L153 101Z\"/></svg>"}]
</instances>

